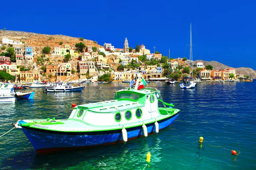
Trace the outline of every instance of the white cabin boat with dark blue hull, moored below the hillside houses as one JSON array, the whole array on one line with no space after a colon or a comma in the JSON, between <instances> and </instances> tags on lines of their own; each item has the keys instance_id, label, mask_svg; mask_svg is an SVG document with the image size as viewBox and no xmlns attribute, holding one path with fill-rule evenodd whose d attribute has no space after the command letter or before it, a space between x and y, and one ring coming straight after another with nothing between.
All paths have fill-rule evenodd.
<instances>
[{"instance_id":1,"label":"white cabin boat with dark blue hull, moored below the hillside houses","mask_svg":"<svg viewBox=\"0 0 256 170\"><path fill-rule=\"evenodd\" d=\"M71 91L82 91L85 88L84 86L65 85L63 83L57 83L55 87L45 88L47 92L71 92Z\"/></svg>"}]
</instances>

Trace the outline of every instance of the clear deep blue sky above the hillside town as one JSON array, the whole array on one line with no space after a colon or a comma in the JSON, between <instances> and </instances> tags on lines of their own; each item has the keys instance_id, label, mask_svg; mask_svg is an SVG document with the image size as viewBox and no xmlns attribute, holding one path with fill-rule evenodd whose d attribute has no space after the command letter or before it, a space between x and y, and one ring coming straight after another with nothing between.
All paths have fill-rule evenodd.
<instances>
[{"instance_id":1,"label":"clear deep blue sky above the hillside town","mask_svg":"<svg viewBox=\"0 0 256 170\"><path fill-rule=\"evenodd\" d=\"M193 59L256 70L256 1L76 0L1 2L0 29L144 44L184 57L192 23ZM186 56L187 57L187 56Z\"/></svg>"}]
</instances>

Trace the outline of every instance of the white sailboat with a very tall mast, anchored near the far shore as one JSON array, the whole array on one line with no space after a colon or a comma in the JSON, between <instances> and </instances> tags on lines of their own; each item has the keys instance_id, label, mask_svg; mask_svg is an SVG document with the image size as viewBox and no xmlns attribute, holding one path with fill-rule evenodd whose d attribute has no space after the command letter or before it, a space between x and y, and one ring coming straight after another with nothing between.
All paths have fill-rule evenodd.
<instances>
[{"instance_id":1,"label":"white sailboat with a very tall mast, anchored near the far shore","mask_svg":"<svg viewBox=\"0 0 256 170\"><path fill-rule=\"evenodd\" d=\"M189 49L189 77L182 77L183 81L180 83L180 88L196 88L197 84L193 81L193 54L192 54L192 31L190 23L190 49ZM192 68L192 77L190 77L190 67Z\"/></svg>"}]
</instances>

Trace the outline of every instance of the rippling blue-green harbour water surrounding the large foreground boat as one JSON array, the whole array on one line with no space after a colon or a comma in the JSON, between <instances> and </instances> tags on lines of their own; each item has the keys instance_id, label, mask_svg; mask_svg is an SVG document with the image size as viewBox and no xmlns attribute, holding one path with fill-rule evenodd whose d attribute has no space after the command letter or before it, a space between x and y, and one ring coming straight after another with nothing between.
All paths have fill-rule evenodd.
<instances>
[{"instance_id":1,"label":"rippling blue-green harbour water surrounding the large foreground boat","mask_svg":"<svg viewBox=\"0 0 256 170\"><path fill-rule=\"evenodd\" d=\"M87 84L82 92L70 93L43 93L42 89L35 89L31 102L0 105L0 135L12 129L12 122L18 119L68 118L71 103L113 99L115 92L125 86L128 83ZM127 144L40 155L22 130L14 129L0 138L0 169L256 169L255 81L200 82L196 89L180 89L178 84L164 83L148 83L148 86L158 88L165 102L181 110L175 122L157 135ZM201 136L203 147L198 147ZM230 150L241 153L233 156ZM151 152L150 164L145 161L148 152Z\"/></svg>"}]
</instances>

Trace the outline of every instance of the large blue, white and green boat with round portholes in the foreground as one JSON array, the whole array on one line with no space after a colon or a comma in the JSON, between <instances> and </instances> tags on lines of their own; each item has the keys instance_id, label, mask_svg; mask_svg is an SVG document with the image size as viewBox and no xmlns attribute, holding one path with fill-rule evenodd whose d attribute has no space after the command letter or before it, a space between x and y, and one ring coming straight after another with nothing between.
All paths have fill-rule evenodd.
<instances>
[{"instance_id":1,"label":"large blue, white and green boat with round portholes in the foreground","mask_svg":"<svg viewBox=\"0 0 256 170\"><path fill-rule=\"evenodd\" d=\"M163 102L156 88L140 89L138 83L117 91L113 100L76 106L65 120L28 119L12 125L23 130L38 153L146 138L171 125L180 110Z\"/></svg>"}]
</instances>

